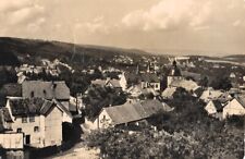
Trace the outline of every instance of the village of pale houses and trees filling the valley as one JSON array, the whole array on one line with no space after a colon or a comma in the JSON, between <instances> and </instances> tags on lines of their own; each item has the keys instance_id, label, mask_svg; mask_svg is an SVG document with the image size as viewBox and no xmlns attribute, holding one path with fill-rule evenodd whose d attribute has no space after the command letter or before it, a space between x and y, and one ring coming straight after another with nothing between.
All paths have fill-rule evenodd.
<instances>
[{"instance_id":1,"label":"village of pale houses and trees filling the valley","mask_svg":"<svg viewBox=\"0 0 245 159\"><path fill-rule=\"evenodd\" d=\"M194 109L216 122L245 115L244 66L191 57L162 62L152 56L139 61L115 56L109 66L79 70L58 59L16 66L16 83L3 85L8 93L0 109L2 157L32 158L33 151L44 154L51 147L65 151L62 147L72 137L78 136L81 143L84 134L110 129L166 133L159 129L164 125L162 117L188 109L188 105L198 103ZM77 72L89 77L83 82L86 87L82 88L79 81L68 84ZM75 135L71 136L69 129Z\"/></svg>"}]
</instances>

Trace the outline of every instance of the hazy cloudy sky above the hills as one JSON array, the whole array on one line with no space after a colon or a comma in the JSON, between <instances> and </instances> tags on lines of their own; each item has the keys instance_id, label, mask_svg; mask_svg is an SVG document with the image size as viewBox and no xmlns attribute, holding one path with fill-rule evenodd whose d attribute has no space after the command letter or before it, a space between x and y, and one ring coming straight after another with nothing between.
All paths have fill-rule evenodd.
<instances>
[{"instance_id":1,"label":"hazy cloudy sky above the hills","mask_svg":"<svg viewBox=\"0 0 245 159\"><path fill-rule=\"evenodd\" d=\"M0 36L245 54L245 0L0 0Z\"/></svg>"}]
</instances>

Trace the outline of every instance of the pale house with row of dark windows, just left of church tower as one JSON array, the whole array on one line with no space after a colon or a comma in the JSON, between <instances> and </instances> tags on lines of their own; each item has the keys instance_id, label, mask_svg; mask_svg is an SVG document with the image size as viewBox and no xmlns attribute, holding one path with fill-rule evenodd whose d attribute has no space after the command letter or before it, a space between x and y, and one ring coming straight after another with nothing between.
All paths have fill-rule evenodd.
<instances>
[{"instance_id":1,"label":"pale house with row of dark windows, just left of church tower","mask_svg":"<svg viewBox=\"0 0 245 159\"><path fill-rule=\"evenodd\" d=\"M156 91L160 91L160 80L157 74L145 73L140 75L142 88L154 88Z\"/></svg>"}]
</instances>

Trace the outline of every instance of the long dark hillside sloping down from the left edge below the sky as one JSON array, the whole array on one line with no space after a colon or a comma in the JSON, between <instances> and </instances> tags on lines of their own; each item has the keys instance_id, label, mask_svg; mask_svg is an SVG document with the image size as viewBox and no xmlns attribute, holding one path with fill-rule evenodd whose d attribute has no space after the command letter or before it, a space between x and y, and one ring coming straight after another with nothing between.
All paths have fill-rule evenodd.
<instances>
[{"instance_id":1,"label":"long dark hillside sloping down from the left edge below the sky","mask_svg":"<svg viewBox=\"0 0 245 159\"><path fill-rule=\"evenodd\" d=\"M138 58L143 54L150 56L145 51L137 49L121 49L102 46L74 45L61 41L46 41L37 39L22 39L11 37L0 37L0 58L5 61L19 62L37 62L40 58L47 59L65 59L72 62L93 62L98 59L110 60L113 56L125 54ZM27 57L30 57L29 59ZM70 61L71 62L71 61ZM2 64L0 63L0 64Z\"/></svg>"}]
</instances>

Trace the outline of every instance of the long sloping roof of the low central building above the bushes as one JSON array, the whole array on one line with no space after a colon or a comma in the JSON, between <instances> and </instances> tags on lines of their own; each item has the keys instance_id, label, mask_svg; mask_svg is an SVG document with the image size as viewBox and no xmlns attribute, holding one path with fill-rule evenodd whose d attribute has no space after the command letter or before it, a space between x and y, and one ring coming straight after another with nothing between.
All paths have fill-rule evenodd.
<instances>
[{"instance_id":1,"label":"long sloping roof of the low central building above the bushes","mask_svg":"<svg viewBox=\"0 0 245 159\"><path fill-rule=\"evenodd\" d=\"M109 114L115 125L149 118L160 110L164 110L164 107L158 100L146 100L136 103L126 102L121 106L105 108L105 111Z\"/></svg>"}]
</instances>

